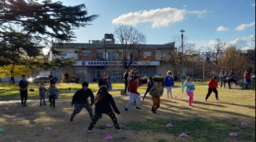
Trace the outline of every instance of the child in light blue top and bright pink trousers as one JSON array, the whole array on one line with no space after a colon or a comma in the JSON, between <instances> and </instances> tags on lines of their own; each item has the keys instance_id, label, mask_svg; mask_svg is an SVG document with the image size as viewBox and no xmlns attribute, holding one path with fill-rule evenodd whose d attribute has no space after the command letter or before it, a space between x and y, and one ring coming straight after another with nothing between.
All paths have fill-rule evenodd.
<instances>
[{"instance_id":1,"label":"child in light blue top and bright pink trousers","mask_svg":"<svg viewBox=\"0 0 256 142\"><path fill-rule=\"evenodd\" d=\"M189 78L187 78L187 82L182 86L182 92L185 87L187 87L186 92L187 92L187 96L189 96L189 106L192 106L192 102L193 102L193 98L194 98L193 91L195 90L195 84L194 84L193 78L191 76L189 76Z\"/></svg>"}]
</instances>

